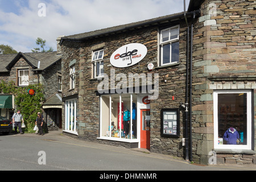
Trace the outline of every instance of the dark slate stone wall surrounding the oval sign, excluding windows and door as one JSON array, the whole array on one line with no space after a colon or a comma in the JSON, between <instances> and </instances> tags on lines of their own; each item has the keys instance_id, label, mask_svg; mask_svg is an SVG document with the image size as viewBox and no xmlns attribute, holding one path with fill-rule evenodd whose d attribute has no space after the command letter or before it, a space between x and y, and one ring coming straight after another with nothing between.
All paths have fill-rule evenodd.
<instances>
[{"instance_id":1,"label":"dark slate stone wall surrounding the oval sign, excluding windows and door","mask_svg":"<svg viewBox=\"0 0 256 182\"><path fill-rule=\"evenodd\" d=\"M178 23L163 24L163 27L175 26ZM63 96L67 97L76 93L79 94L77 103L79 138L96 141L97 137L99 137L100 104L99 97L96 96L96 91L101 81L92 77L92 51L104 48L104 73L108 76L110 76L111 69L114 69L115 75L124 73L128 77L129 73L151 73L154 79L159 80L159 97L156 100L151 100L150 105L150 150L162 154L183 156L183 147L181 146L184 130L183 111L180 112L180 138L164 138L160 135L160 111L165 108L178 108L180 102L185 102L186 27L185 23L180 24L180 63L168 67L159 67L158 28L158 26L140 28L120 34L85 40L82 43L63 42L61 45L61 52L63 52ZM110 64L110 56L115 50L129 43L141 43L146 46L148 49L146 57L139 64L132 67L114 68ZM147 69L149 63L153 63L155 67L151 72ZM76 88L74 90L69 90L69 68L71 64L75 64L76 67ZM154 77L155 73L159 77ZM118 82L115 80L115 85ZM172 100L172 96L174 96L174 100ZM97 140L97 142L102 141ZM105 140L103 143L129 147L127 144L120 144L119 142L108 142Z\"/></svg>"}]
</instances>

